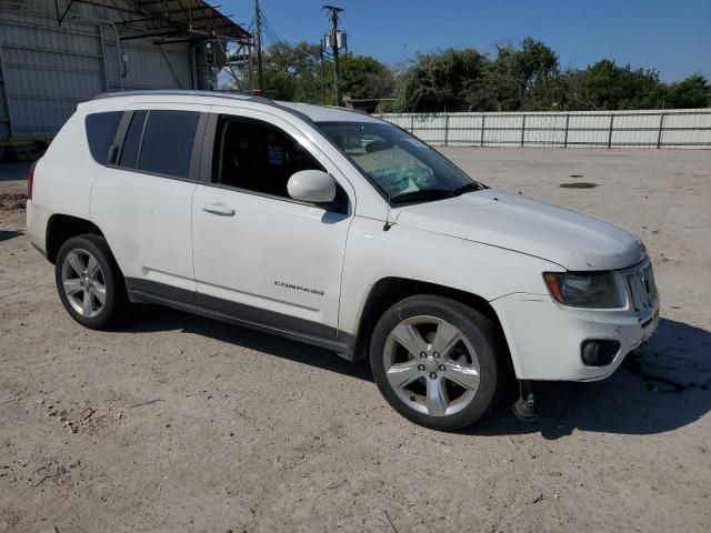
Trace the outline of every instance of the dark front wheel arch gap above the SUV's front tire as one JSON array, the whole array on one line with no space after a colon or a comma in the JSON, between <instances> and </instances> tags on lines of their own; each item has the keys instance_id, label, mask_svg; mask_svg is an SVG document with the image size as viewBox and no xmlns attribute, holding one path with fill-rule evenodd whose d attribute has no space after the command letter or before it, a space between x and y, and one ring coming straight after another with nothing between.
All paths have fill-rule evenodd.
<instances>
[{"instance_id":1,"label":"dark front wheel arch gap above the SUV's front tire","mask_svg":"<svg viewBox=\"0 0 711 533\"><path fill-rule=\"evenodd\" d=\"M421 294L430 294L454 300L475 309L489 318L497 326L498 336L501 340L501 348L503 348L501 354L505 359L504 362L507 365L512 364L508 340L501 325L501 321L499 320L495 310L484 298L471 292L452 289L451 286L407 278L383 278L371 288L360 314L353 359L364 359L368 356L373 328L391 305L408 296Z\"/></svg>"}]
</instances>

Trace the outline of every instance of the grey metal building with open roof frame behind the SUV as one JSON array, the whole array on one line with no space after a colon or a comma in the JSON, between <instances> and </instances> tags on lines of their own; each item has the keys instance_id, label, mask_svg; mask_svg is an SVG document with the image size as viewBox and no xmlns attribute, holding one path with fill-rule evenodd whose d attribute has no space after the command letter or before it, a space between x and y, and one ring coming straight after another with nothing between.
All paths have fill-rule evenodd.
<instances>
[{"instance_id":1,"label":"grey metal building with open roof frame behind the SUV","mask_svg":"<svg viewBox=\"0 0 711 533\"><path fill-rule=\"evenodd\" d=\"M216 89L228 46L251 43L203 0L0 0L0 148L50 139L101 92Z\"/></svg>"}]
</instances>

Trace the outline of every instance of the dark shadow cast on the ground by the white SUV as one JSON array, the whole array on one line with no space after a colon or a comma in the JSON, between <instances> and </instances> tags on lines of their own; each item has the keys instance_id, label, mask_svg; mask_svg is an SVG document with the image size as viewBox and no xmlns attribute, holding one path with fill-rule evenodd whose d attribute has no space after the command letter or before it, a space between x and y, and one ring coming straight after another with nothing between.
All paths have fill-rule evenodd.
<instances>
[{"instance_id":1,"label":"dark shadow cast on the ground by the white SUV","mask_svg":"<svg viewBox=\"0 0 711 533\"><path fill-rule=\"evenodd\" d=\"M154 306L134 306L121 331L180 330L249 350L289 359L350 378L372 381L365 361L349 362L333 352L268 333ZM711 410L711 332L661 319L659 330L628 355L608 380L591 383L538 382L537 422L511 412L515 382L487 420L462 434L479 436L540 433L554 440L573 431L648 435L695 422Z\"/></svg>"}]
</instances>

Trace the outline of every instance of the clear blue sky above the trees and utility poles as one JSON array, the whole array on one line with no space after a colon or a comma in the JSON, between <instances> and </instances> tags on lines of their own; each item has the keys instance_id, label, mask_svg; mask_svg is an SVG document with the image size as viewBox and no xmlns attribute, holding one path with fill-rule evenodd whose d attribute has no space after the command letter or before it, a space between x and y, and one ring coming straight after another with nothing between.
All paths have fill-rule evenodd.
<instances>
[{"instance_id":1,"label":"clear blue sky above the trees and utility poles","mask_svg":"<svg viewBox=\"0 0 711 533\"><path fill-rule=\"evenodd\" d=\"M214 0L248 26L252 0ZM497 44L532 37L562 68L613 59L654 68L663 81L694 72L711 79L711 0L260 0L278 39L318 42L330 22L324 3L344 8L349 51L389 66L448 47L495 54ZM269 43L269 39L266 43Z\"/></svg>"}]
</instances>

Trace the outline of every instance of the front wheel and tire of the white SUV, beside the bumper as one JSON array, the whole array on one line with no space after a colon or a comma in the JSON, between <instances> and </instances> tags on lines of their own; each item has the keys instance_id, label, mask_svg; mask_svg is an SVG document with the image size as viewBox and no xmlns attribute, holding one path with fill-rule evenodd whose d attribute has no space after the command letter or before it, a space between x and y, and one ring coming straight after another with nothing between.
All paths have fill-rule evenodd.
<instances>
[{"instance_id":1,"label":"front wheel and tire of the white SUV, beside the bumper","mask_svg":"<svg viewBox=\"0 0 711 533\"><path fill-rule=\"evenodd\" d=\"M369 356L375 384L415 424L442 431L472 425L500 390L504 369L497 331L491 319L457 301L407 298L373 329Z\"/></svg>"}]
</instances>

